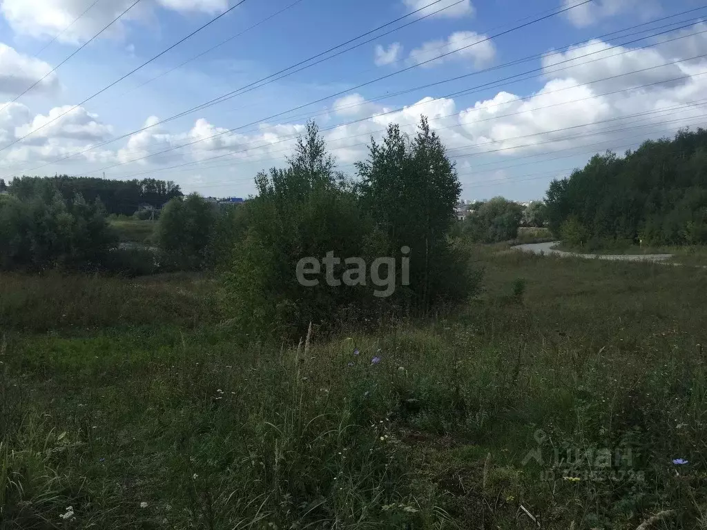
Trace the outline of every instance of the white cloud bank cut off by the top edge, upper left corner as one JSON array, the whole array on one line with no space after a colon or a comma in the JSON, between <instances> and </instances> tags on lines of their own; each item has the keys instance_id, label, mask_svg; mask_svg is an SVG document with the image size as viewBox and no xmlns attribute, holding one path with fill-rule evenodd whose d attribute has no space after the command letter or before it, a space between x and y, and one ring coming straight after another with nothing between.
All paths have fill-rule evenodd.
<instances>
[{"instance_id":1,"label":"white cloud bank cut off by the top edge, upper left corner","mask_svg":"<svg viewBox=\"0 0 707 530\"><path fill-rule=\"evenodd\" d=\"M76 43L93 37L133 2L134 0L103 0L86 11L86 0L1 0L0 13L16 33L37 38L59 35L58 39L62 42ZM156 0L156 4L181 13L217 13L228 8L228 0ZM102 36L122 36L126 22L148 20L153 11L151 5L155 4L137 4L112 24ZM84 11L86 13L82 14ZM69 25L71 27L65 30Z\"/></svg>"}]
</instances>

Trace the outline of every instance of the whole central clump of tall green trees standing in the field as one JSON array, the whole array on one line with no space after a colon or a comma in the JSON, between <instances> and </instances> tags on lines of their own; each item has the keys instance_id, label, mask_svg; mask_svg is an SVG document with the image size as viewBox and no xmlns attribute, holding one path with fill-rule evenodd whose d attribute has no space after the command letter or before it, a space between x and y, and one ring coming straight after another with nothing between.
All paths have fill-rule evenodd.
<instances>
[{"instance_id":1,"label":"whole central clump of tall green trees standing in the field","mask_svg":"<svg viewBox=\"0 0 707 530\"><path fill-rule=\"evenodd\" d=\"M397 308L425 312L472 292L468 254L448 237L460 184L425 119L412 139L391 125L382 143L371 141L356 182L334 167L310 122L287 167L257 175L257 196L234 216L229 237L216 230L232 249L223 300L240 329L300 333L310 322L361 322ZM296 276L308 257L331 260L315 286ZM366 278L366 266L381 257L395 259L386 271L387 298L374 295ZM354 285L341 278L355 278Z\"/></svg>"}]
</instances>

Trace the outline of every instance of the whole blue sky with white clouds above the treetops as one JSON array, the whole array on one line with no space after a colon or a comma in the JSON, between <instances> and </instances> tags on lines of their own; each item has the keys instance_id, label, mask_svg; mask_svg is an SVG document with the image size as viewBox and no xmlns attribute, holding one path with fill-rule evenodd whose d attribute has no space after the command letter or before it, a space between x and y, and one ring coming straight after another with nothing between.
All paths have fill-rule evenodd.
<instances>
[{"instance_id":1,"label":"whole blue sky with white clouds above the treetops","mask_svg":"<svg viewBox=\"0 0 707 530\"><path fill-rule=\"evenodd\" d=\"M372 137L424 115L462 199L527 201L707 123L698 0L238 1L0 0L0 178L247 197L308 119L355 177Z\"/></svg>"}]
</instances>

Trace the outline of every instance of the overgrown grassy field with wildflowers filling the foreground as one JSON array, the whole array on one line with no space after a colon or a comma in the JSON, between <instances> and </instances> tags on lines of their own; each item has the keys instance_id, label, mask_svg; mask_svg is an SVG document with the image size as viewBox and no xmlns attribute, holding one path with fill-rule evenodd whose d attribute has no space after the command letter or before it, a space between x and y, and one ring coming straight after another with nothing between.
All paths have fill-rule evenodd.
<instances>
[{"instance_id":1,"label":"overgrown grassy field with wildflowers filling the foreground","mask_svg":"<svg viewBox=\"0 0 707 530\"><path fill-rule=\"evenodd\" d=\"M299 346L199 276L0 276L0 526L707 529L707 271L478 261L452 316Z\"/></svg>"}]
</instances>

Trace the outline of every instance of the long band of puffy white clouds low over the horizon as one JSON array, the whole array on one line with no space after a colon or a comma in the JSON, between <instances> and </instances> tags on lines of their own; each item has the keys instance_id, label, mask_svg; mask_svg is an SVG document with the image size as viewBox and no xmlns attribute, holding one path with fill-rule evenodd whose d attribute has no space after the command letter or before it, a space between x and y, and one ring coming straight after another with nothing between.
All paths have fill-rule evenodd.
<instances>
[{"instance_id":1,"label":"long band of puffy white clouds low over the horizon","mask_svg":"<svg viewBox=\"0 0 707 530\"><path fill-rule=\"evenodd\" d=\"M445 40L444 45L454 46L455 42L457 41L453 39ZM698 41L694 45L700 47L702 44ZM580 59L580 55L594 51L600 53L590 58L602 57L601 61L588 62L586 59ZM609 57L617 52L626 53ZM340 165L365 159L368 154L366 144L370 136L380 139L383 130L390 122L397 122L405 133L414 135L421 114L425 114L430 119L431 128L438 132L445 145L452 150L450 155L469 153L481 155L485 151L503 150L481 155L479 158L483 162L497 163L506 160L509 156L518 155L532 155L534 160L544 161L553 156L558 157L556 152L559 151L563 151L562 155L579 153L582 156L586 154L583 152L588 148L596 151L617 148L623 151L624 144L627 142L638 143L644 138L672 134L679 126L689 124L695 126L698 120L704 121L703 115L707 114L705 103L691 106L686 104L705 98L707 75L701 74L707 70L707 61L667 64L674 60L676 55L689 57L691 53L691 51L681 52L679 49L660 44L650 49L608 51L607 43L592 40L566 52L547 54L542 59L544 85L530 95L515 94L510 90L501 91L471 105L468 104L468 100L462 104L461 100L449 98L422 98L402 110L385 114L386 109L366 101L362 95L349 94L332 103L329 116L332 117L333 123L336 123L334 119L341 117L347 121L348 117L354 119L360 117L361 121L335 126L332 129L327 127L328 130L322 131L322 134L325 135L329 150L337 157ZM553 65L566 59L573 61L570 64L571 68L553 72L556 69ZM561 66L567 66L567 63ZM651 66L659 67L602 83L588 83L599 78L619 76ZM691 77L679 83L662 82L672 76ZM635 88L636 85L645 83L656 84ZM626 88L631 90L606 94ZM684 106L672 108L678 105ZM0 108L1 106L0 104ZM50 111L48 116L52 117L57 115L57 112L63 112L62 108L65 107ZM670 112L646 114L666 108L669 108ZM462 111L457 114L460 109ZM637 117L634 114L641 114L641 116ZM47 117L35 116L24 105L10 105L5 112L0 112L0 139L11 141L16 138L18 131L32 130L46 120ZM607 120L612 121L607 122ZM146 125L157 122L158 118L151 117ZM629 131L617 130L632 126L641 126L641 128ZM172 170L163 175L169 178L173 175L175 177L182 175L184 179L189 178L189 175L201 175L204 189L210 194L216 193L212 187L213 182L218 182L219 176L223 181L223 175L228 174L232 180L224 184L224 194L238 193L230 188L236 185L233 184L235 182L233 179L238 177L240 182L246 183L243 184L244 186L249 186L248 183L252 182L252 176L257 170L272 165L284 165L285 155L291 154L295 144L292 137L300 134L304 127L303 123L262 124L253 132L229 134L221 119L215 119L214 123L206 119L197 119L184 129L176 130L156 126L132 135L122 148L114 147L116 151L98 151L98 153L89 151L81 157L77 156L73 159L74 167L80 169L76 172L81 172L85 171L86 167L90 167L88 163L98 160L107 161L102 165L110 165L116 160L129 163L151 153L198 141L191 146L174 149L163 155L126 164L114 175L109 176L129 175L131 172L140 171L141 166L150 167L152 170L165 165L203 161L203 165L188 166L187 169L191 170L189 173ZM16 148L0 153L0 160L4 160L5 163L8 160L24 161L23 166L28 163L33 164L35 160L51 160L52 155L58 158L75 151L76 148L95 144L99 139L105 138L109 131L110 126L101 123L95 114L81 110L71 119L57 120L57 129L54 129L54 124L49 125L38 132L36 138L28 139L32 141L22 142ZM592 136L580 136L590 133ZM604 143L597 146L597 143L601 142ZM220 155L228 156L210 160ZM488 165L479 163L479 158L475 156L460 158L460 167L464 167L465 173L473 174L472 177L476 178L479 176L479 170L475 168L479 165ZM57 170L62 170L63 167L66 166L62 165ZM559 163L551 167L557 170L562 166ZM481 171L495 177L493 171L499 169L493 167ZM351 171L350 168L345 170ZM511 173L522 170L524 168L509 172L509 178L515 176ZM52 173L54 168L49 167L46 171ZM539 171L542 171L542 166ZM194 182L194 187L198 188L199 184Z\"/></svg>"}]
</instances>

